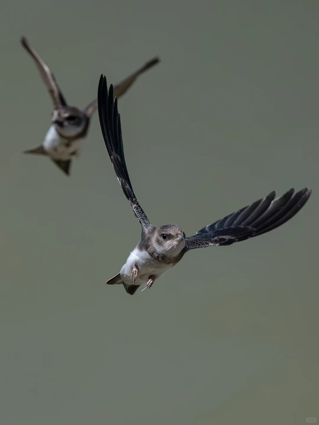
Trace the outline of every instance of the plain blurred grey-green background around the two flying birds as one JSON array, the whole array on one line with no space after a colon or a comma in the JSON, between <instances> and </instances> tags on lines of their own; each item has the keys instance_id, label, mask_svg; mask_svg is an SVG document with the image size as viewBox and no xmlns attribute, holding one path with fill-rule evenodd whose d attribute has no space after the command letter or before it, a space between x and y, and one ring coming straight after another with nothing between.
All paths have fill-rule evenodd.
<instances>
[{"instance_id":1,"label":"plain blurred grey-green background around the two flying birds","mask_svg":"<svg viewBox=\"0 0 319 425\"><path fill-rule=\"evenodd\" d=\"M319 420L319 4L19 0L1 6L0 418L6 425ZM190 252L134 297L140 224L94 115L71 177L40 144L51 99L161 63L119 101L128 171L152 224L187 235L272 190L313 189L282 227Z\"/></svg>"}]
</instances>

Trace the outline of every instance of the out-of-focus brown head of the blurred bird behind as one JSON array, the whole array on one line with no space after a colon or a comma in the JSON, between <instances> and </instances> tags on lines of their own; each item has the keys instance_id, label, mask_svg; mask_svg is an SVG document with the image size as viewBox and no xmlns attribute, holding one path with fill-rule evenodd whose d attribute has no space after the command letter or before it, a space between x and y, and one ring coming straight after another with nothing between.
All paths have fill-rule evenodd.
<instances>
[{"instance_id":1,"label":"out-of-focus brown head of the blurred bird behind","mask_svg":"<svg viewBox=\"0 0 319 425\"><path fill-rule=\"evenodd\" d=\"M53 111L51 121L62 137L72 137L85 129L88 118L80 109L64 106Z\"/></svg>"}]
</instances>

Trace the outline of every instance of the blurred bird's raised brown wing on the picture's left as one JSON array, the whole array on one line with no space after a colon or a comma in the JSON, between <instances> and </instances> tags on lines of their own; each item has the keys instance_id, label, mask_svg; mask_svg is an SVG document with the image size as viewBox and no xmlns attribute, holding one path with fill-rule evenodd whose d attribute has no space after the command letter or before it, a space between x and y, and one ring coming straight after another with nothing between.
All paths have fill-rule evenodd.
<instances>
[{"instance_id":1,"label":"blurred bird's raised brown wing on the picture's left","mask_svg":"<svg viewBox=\"0 0 319 425\"><path fill-rule=\"evenodd\" d=\"M60 91L59 86L54 78L54 75L49 70L48 66L43 62L37 52L29 45L26 37L21 37L21 44L28 51L31 57L34 59L35 64L40 72L40 75L43 79L44 84L46 85L51 99L53 101L54 108L60 108L61 106L66 106L66 99L64 99L63 94Z\"/></svg>"}]
</instances>

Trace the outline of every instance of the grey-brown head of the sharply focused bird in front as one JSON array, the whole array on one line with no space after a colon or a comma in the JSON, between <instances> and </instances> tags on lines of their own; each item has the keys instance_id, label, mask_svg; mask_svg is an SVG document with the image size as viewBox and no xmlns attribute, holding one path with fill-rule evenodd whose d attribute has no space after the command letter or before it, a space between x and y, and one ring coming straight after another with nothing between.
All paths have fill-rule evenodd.
<instances>
[{"instance_id":1,"label":"grey-brown head of the sharply focused bird in front","mask_svg":"<svg viewBox=\"0 0 319 425\"><path fill-rule=\"evenodd\" d=\"M185 233L176 224L164 224L156 227L154 246L157 252L175 257L185 246Z\"/></svg>"}]
</instances>

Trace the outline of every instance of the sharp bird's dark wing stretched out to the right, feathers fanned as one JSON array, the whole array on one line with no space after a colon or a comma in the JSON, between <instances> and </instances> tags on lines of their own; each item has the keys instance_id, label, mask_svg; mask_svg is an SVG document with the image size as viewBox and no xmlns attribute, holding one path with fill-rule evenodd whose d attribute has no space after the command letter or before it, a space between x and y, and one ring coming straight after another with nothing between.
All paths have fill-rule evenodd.
<instances>
[{"instance_id":1,"label":"sharp bird's dark wing stretched out to the right, feathers fanned","mask_svg":"<svg viewBox=\"0 0 319 425\"><path fill-rule=\"evenodd\" d=\"M262 235L284 224L308 201L312 190L305 187L294 195L290 189L275 198L273 191L265 198L203 227L196 235L186 238L185 249L205 248L211 245L231 245L253 236Z\"/></svg>"}]
</instances>

